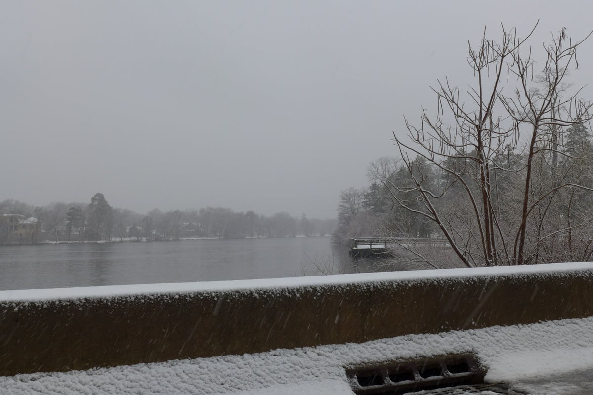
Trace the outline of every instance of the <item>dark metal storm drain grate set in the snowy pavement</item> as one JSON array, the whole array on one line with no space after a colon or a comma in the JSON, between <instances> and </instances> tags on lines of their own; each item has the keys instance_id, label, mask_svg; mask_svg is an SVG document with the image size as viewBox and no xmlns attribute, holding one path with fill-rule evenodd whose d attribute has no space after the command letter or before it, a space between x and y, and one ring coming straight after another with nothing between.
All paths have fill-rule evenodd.
<instances>
[{"instance_id":1,"label":"dark metal storm drain grate set in the snowy pavement","mask_svg":"<svg viewBox=\"0 0 593 395\"><path fill-rule=\"evenodd\" d=\"M484 382L484 374L479 362L471 354L444 355L387 365L365 365L346 370L350 386L357 395L406 394L439 388L454 389L451 387L456 386L471 388L469 386L476 387L475 384ZM468 393L467 390L465 393Z\"/></svg>"}]
</instances>

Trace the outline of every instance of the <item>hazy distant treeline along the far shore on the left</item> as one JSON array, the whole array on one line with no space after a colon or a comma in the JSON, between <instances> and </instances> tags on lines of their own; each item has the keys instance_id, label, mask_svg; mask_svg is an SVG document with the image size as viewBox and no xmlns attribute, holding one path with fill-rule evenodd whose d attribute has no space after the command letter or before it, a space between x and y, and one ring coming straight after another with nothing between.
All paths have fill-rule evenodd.
<instances>
[{"instance_id":1,"label":"hazy distant treeline along the far shore on the left","mask_svg":"<svg viewBox=\"0 0 593 395\"><path fill-rule=\"evenodd\" d=\"M143 215L111 207L100 192L87 204L34 207L17 200L0 203L0 244L323 236L335 226L334 219L310 219L305 214L293 217L282 211L266 217L223 207L167 212L155 209Z\"/></svg>"}]
</instances>

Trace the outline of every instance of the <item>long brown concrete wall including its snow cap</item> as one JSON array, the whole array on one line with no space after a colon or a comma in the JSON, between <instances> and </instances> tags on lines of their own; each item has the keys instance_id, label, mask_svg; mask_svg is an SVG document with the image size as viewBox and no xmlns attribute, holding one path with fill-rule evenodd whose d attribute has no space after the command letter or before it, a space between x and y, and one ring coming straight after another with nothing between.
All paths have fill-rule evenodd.
<instances>
[{"instance_id":1,"label":"long brown concrete wall including its snow cap","mask_svg":"<svg viewBox=\"0 0 593 395\"><path fill-rule=\"evenodd\" d=\"M0 291L0 375L593 316L593 265Z\"/></svg>"}]
</instances>

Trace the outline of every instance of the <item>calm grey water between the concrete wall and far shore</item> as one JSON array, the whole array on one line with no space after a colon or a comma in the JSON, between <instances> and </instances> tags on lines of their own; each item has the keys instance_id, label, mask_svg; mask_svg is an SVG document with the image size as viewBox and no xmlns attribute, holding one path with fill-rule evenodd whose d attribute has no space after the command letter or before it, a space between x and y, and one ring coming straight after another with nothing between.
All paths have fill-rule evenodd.
<instances>
[{"instance_id":1,"label":"calm grey water between the concrete wall and far shore","mask_svg":"<svg viewBox=\"0 0 593 395\"><path fill-rule=\"evenodd\" d=\"M329 237L0 247L0 290L376 271Z\"/></svg>"}]
</instances>

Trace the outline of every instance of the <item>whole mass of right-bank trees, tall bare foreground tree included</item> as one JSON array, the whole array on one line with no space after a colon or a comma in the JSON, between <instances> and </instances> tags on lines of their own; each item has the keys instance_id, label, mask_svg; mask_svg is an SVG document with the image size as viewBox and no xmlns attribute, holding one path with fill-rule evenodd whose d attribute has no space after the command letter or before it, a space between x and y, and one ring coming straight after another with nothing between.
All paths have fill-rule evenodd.
<instances>
[{"instance_id":1,"label":"whole mass of right-bank trees, tall bare foreground tree included","mask_svg":"<svg viewBox=\"0 0 593 395\"><path fill-rule=\"evenodd\" d=\"M473 82L437 80L436 111L393 132L397 158L340 195L334 240L389 238L431 268L593 261L593 104L567 78L583 41L476 38ZM447 248L398 241L419 236Z\"/></svg>"}]
</instances>

